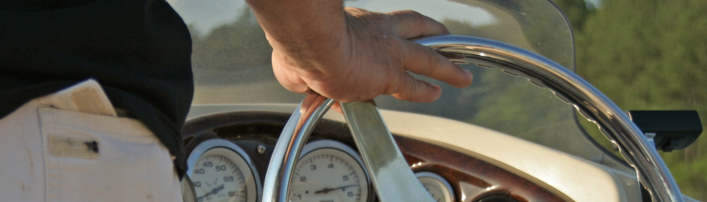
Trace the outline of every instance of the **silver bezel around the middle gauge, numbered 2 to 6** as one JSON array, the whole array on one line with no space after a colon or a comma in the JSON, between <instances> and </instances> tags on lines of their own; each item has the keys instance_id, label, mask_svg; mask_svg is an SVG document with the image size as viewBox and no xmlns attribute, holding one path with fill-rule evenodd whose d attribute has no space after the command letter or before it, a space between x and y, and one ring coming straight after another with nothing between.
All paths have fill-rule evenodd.
<instances>
[{"instance_id":1,"label":"silver bezel around the middle gauge, numbered 2 to 6","mask_svg":"<svg viewBox=\"0 0 707 202\"><path fill-rule=\"evenodd\" d=\"M354 150L354 148L349 147L349 145L346 145L344 143L341 143L339 141L332 141L332 140L318 140L318 141L312 141L310 143L307 143L303 146L302 152L298 156L298 161L303 158L305 155L308 153L311 153L312 151L319 150L319 149L324 149L324 148L330 148L330 149L335 149L335 150L340 150L341 152L346 153L347 155L351 156L351 158L354 158L356 162L358 162L358 165L361 166L363 169L363 175L366 176L366 184L367 184L367 189L368 189L368 196L366 196L366 202L368 201L373 201L373 196L375 196L375 190L373 190L373 184L370 182L370 177L368 177L368 169L366 168L366 165L363 164L363 160L361 160L361 156L358 155L358 152ZM298 162L299 163L299 162Z\"/></svg>"}]
</instances>

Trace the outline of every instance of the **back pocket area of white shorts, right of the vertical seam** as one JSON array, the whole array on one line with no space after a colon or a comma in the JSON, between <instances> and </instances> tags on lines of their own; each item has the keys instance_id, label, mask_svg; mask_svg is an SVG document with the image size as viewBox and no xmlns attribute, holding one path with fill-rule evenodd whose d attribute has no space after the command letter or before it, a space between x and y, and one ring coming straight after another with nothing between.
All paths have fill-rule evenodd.
<instances>
[{"instance_id":1,"label":"back pocket area of white shorts, right of the vertical seam","mask_svg":"<svg viewBox=\"0 0 707 202\"><path fill-rule=\"evenodd\" d=\"M170 153L140 121L54 108L38 113L47 201L176 201Z\"/></svg>"}]
</instances>

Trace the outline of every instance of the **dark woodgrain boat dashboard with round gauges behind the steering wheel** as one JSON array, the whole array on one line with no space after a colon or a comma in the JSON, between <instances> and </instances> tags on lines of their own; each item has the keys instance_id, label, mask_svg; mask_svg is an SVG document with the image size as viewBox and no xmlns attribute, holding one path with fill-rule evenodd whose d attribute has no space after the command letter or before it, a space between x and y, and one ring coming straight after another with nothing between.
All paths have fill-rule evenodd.
<instances>
[{"instance_id":1,"label":"dark woodgrain boat dashboard with round gauges behind the steering wheel","mask_svg":"<svg viewBox=\"0 0 707 202\"><path fill-rule=\"evenodd\" d=\"M194 198L262 200L261 182L289 117L285 112L241 110L188 119L183 139ZM460 152L454 145L395 131L393 135L411 170L438 202L573 201L501 162ZM378 201L344 122L320 121L299 159L288 191L290 201Z\"/></svg>"}]
</instances>

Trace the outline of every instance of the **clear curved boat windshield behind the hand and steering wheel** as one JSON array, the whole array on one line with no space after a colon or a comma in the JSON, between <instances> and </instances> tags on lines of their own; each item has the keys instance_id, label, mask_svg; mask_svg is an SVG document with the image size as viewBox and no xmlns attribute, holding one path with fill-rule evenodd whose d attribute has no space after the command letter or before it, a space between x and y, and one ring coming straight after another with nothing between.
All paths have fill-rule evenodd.
<instances>
[{"instance_id":1,"label":"clear curved boat windshield behind the hand and steering wheel","mask_svg":"<svg viewBox=\"0 0 707 202\"><path fill-rule=\"evenodd\" d=\"M272 49L244 1L170 0L192 32L194 105L299 103L276 81ZM369 11L414 10L444 23L452 35L497 40L530 50L574 69L574 48L566 18L546 0L355 0L346 6ZM440 85L443 95L432 103L411 103L390 96L378 106L465 121L524 138L564 153L620 170L631 170L585 136L574 109L549 90L525 78L473 64L467 88L419 77Z\"/></svg>"}]
</instances>

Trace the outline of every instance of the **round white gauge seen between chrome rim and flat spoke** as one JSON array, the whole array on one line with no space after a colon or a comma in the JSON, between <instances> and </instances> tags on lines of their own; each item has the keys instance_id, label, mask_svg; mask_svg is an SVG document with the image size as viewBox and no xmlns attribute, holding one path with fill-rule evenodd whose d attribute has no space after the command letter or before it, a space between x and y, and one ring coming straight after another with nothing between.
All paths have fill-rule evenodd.
<instances>
[{"instance_id":1,"label":"round white gauge seen between chrome rim and flat spoke","mask_svg":"<svg viewBox=\"0 0 707 202\"><path fill-rule=\"evenodd\" d=\"M289 201L368 201L366 170L349 146L315 141L305 145L302 153L292 175Z\"/></svg>"}]
</instances>

